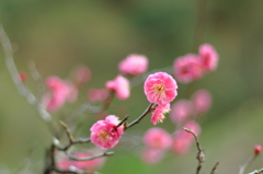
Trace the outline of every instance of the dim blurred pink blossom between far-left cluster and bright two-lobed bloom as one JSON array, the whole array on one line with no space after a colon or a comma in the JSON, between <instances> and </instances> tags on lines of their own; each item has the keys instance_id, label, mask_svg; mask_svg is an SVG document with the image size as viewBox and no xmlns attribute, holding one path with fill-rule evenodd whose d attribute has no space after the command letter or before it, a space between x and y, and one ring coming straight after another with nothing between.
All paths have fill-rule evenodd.
<instances>
[{"instance_id":1,"label":"dim blurred pink blossom between far-left cluster and bright two-lobed bloom","mask_svg":"<svg viewBox=\"0 0 263 174\"><path fill-rule=\"evenodd\" d=\"M106 89L90 89L88 91L88 98L91 102L102 102L108 96Z\"/></svg>"}]
</instances>

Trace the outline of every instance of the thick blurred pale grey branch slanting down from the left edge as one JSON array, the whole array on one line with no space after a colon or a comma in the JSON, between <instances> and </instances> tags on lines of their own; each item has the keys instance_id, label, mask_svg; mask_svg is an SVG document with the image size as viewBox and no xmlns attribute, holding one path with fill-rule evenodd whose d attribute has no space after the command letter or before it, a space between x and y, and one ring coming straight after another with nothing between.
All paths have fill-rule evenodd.
<instances>
[{"instance_id":1,"label":"thick blurred pale grey branch slanting down from the left edge","mask_svg":"<svg viewBox=\"0 0 263 174\"><path fill-rule=\"evenodd\" d=\"M0 24L0 42L3 47L3 51L5 55L5 63L9 70L9 73L11 74L11 78L13 80L13 83L15 84L18 91L20 94L27 100L27 102L33 105L36 111L38 112L41 118L45 123L52 123L52 116L45 109L44 105L37 101L35 95L24 85L24 83L21 81L19 71L15 67L15 63L13 61L13 49L11 42L5 34L2 25ZM49 124L50 127L50 124Z\"/></svg>"}]
</instances>

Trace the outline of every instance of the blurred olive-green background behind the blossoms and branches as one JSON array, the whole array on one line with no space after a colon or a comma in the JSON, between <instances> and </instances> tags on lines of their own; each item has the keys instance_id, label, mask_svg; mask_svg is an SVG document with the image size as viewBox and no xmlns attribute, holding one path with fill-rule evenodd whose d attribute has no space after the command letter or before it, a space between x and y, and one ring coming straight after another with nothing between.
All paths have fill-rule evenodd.
<instances>
[{"instance_id":1,"label":"blurred olive-green background behind the blossoms and branches","mask_svg":"<svg viewBox=\"0 0 263 174\"><path fill-rule=\"evenodd\" d=\"M220 56L217 71L191 85L191 93L207 89L214 98L209 113L199 119L201 142L206 153L203 171L208 173L219 161L218 173L238 173L240 164L252 155L253 147L263 144L263 1L206 0L206 8L203 2L1 0L0 23L18 49L14 60L20 71L28 73L31 60L43 78L52 74L67 78L78 65L91 69L92 80L79 95L79 103L85 101L89 88L102 88L106 80L114 79L118 73L117 63L129 54L146 55L149 70L155 70L172 66L179 56L196 53L199 44L214 45ZM198 3L202 3L201 12L206 13L206 22L201 21L199 25ZM204 33L198 39L194 39L196 28ZM0 81L1 173L26 167L41 173L44 149L52 137L34 108L19 95L5 68L2 47ZM28 79L26 85L36 92L33 80ZM185 97L185 88L179 84L178 98ZM114 100L110 113L121 117L129 114L135 118L147 105L142 85L138 85L127 101ZM69 107L54 116L68 111ZM93 118L87 118L79 136L89 136L93 123ZM127 135L142 135L150 127L151 123L145 119ZM169 132L175 129L169 118L158 127ZM144 164L137 148L116 148L115 155L107 159L100 172L188 174L197 166L195 147L186 156L168 153L155 165ZM249 171L263 167L262 164L263 156Z\"/></svg>"}]
</instances>

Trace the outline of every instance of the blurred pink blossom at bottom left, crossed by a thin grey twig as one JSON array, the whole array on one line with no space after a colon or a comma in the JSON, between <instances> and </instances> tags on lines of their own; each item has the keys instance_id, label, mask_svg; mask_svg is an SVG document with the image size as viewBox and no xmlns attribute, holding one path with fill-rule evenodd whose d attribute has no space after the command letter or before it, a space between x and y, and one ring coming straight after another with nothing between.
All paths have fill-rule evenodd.
<instances>
[{"instance_id":1,"label":"blurred pink blossom at bottom left, crossed by a thin grey twig","mask_svg":"<svg viewBox=\"0 0 263 174\"><path fill-rule=\"evenodd\" d=\"M93 156L95 154L88 154L88 153L76 153L75 156L78 159L84 159L89 156ZM94 160L88 160L88 161L72 161L72 165L76 166L79 170L85 171L85 172L93 172L95 170L99 170L102 167L102 165L105 162L105 158L99 158Z\"/></svg>"}]
</instances>

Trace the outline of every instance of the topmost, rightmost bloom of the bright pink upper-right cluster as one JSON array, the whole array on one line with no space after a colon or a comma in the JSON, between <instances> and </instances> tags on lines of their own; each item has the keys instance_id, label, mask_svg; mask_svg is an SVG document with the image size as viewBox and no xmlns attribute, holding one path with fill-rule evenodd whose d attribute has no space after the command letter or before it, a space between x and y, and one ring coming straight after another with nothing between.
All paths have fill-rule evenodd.
<instances>
[{"instance_id":1,"label":"topmost, rightmost bloom of the bright pink upper-right cluster","mask_svg":"<svg viewBox=\"0 0 263 174\"><path fill-rule=\"evenodd\" d=\"M199 59L203 69L209 72L216 70L219 57L211 45L203 44L199 46Z\"/></svg>"}]
</instances>

